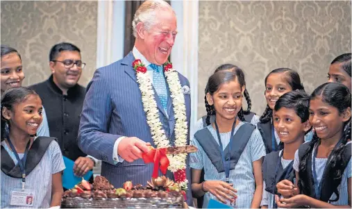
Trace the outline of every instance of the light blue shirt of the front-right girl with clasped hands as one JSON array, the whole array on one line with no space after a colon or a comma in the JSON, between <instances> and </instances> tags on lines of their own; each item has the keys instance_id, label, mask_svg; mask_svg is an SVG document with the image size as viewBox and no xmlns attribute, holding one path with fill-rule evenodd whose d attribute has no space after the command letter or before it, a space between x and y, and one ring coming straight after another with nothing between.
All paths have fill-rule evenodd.
<instances>
[{"instance_id":1,"label":"light blue shirt of the front-right girl with clasped hands","mask_svg":"<svg viewBox=\"0 0 352 209\"><path fill-rule=\"evenodd\" d=\"M351 142L347 142L346 144L350 144L350 143ZM314 156L314 149L313 149L312 156ZM317 181L319 183L321 181L321 178L323 177L326 162L328 162L328 158L315 158L315 169L317 169ZM293 167L296 172L299 172L299 151L298 150L296 151L296 153L294 153ZM342 181L340 185L337 187L337 190L340 192L340 199L334 202L329 202L330 204L333 204L335 206L349 205L349 190L348 190L347 179L351 178L351 176L352 176L352 169L351 169L351 159L350 159L346 169L344 169L344 174L342 175ZM336 199L336 194L333 193L330 199Z\"/></svg>"}]
</instances>

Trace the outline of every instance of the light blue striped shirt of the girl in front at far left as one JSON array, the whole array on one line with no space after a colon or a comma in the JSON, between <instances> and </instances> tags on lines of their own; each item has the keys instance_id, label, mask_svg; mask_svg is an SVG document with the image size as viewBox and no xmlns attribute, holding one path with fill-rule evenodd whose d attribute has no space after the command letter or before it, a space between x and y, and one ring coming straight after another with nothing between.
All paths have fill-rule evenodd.
<instances>
[{"instance_id":1,"label":"light blue striped shirt of the girl in front at far left","mask_svg":"<svg viewBox=\"0 0 352 209\"><path fill-rule=\"evenodd\" d=\"M5 141L1 145L9 153L12 160L17 165L17 158ZM24 153L19 153L19 158L23 158ZM28 159L31 160L31 159ZM51 187L52 176L65 169L62 153L58 142L53 141L49 144L47 151L44 153L42 160L33 169L33 171L26 176L26 190L33 190L35 192L33 198L33 207L31 208L49 208L51 203ZM6 176L1 172L1 208L28 208L27 206L11 206L11 192L14 189L22 188L21 178L12 178Z\"/></svg>"}]
</instances>

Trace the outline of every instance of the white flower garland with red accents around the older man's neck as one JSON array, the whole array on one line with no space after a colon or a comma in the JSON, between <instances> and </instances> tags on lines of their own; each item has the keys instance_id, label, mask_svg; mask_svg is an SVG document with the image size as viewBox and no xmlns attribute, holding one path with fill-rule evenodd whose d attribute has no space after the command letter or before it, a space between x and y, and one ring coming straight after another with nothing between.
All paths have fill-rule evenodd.
<instances>
[{"instance_id":1,"label":"white flower garland with red accents around the older man's neck","mask_svg":"<svg viewBox=\"0 0 352 209\"><path fill-rule=\"evenodd\" d=\"M146 112L146 123L151 129L151 136L157 148L170 147L169 140L165 135L159 118L159 110L154 97L154 90L149 77L146 74L146 67L141 60L137 59L132 63L137 76L137 83L140 85L142 93L142 103L144 112ZM181 147L187 145L187 116L185 97L183 95L178 73L172 68L171 62L163 65L164 73L169 85L170 97L176 119L175 124L175 146ZM174 173L175 181L181 186L182 190L187 190L187 178L185 174L187 153L177 155L167 155L170 165L167 169Z\"/></svg>"}]
</instances>

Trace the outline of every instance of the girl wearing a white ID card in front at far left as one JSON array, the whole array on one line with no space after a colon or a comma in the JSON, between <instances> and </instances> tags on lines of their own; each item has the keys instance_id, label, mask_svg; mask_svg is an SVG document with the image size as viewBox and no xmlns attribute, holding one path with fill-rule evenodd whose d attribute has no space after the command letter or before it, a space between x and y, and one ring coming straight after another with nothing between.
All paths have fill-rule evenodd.
<instances>
[{"instance_id":1,"label":"girl wearing a white ID card in front at far left","mask_svg":"<svg viewBox=\"0 0 352 209\"><path fill-rule=\"evenodd\" d=\"M35 137L42 122L42 100L28 87L15 87L1 98L1 208L60 206L61 172L58 142Z\"/></svg>"}]
</instances>

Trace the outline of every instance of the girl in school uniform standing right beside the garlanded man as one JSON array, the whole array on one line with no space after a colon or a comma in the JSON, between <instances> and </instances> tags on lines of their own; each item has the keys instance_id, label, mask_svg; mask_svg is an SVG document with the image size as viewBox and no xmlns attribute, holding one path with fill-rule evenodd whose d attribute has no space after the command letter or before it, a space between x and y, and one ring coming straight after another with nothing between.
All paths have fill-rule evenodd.
<instances>
[{"instance_id":1,"label":"girl in school uniform standing right beside the garlanded man","mask_svg":"<svg viewBox=\"0 0 352 209\"><path fill-rule=\"evenodd\" d=\"M259 208L265 148L258 129L237 116L244 85L235 73L220 71L210 76L207 86L208 126L197 131L192 140L199 149L190 155L192 194L205 194L203 208L208 208L210 199L237 208ZM213 113L215 122L210 124Z\"/></svg>"}]
</instances>

